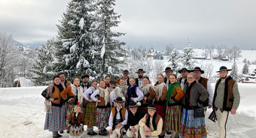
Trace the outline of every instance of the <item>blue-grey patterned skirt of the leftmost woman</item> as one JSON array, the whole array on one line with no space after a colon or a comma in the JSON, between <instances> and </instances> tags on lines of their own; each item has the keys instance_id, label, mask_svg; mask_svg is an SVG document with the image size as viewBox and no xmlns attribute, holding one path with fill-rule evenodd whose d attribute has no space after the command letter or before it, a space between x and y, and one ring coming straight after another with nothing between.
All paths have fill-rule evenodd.
<instances>
[{"instance_id":1,"label":"blue-grey patterned skirt of the leftmost woman","mask_svg":"<svg viewBox=\"0 0 256 138\"><path fill-rule=\"evenodd\" d=\"M51 107L51 113L46 113L44 130L60 131L66 129L66 107Z\"/></svg>"}]
</instances>

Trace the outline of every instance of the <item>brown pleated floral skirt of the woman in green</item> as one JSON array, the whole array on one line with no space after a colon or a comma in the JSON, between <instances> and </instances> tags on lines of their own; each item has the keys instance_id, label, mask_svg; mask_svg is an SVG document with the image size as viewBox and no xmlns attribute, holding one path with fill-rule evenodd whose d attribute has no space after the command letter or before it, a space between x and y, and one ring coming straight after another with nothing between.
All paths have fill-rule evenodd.
<instances>
[{"instance_id":1,"label":"brown pleated floral skirt of the woman in green","mask_svg":"<svg viewBox=\"0 0 256 138\"><path fill-rule=\"evenodd\" d=\"M166 118L164 121L165 130L174 130L178 132L181 126L181 106L167 106Z\"/></svg>"}]
</instances>

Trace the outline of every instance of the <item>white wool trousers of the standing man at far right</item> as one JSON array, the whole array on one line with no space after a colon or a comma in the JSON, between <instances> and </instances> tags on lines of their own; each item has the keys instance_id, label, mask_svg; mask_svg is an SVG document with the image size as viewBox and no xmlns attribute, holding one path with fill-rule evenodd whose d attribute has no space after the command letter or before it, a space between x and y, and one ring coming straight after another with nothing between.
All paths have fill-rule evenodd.
<instances>
[{"instance_id":1,"label":"white wool trousers of the standing man at far right","mask_svg":"<svg viewBox=\"0 0 256 138\"><path fill-rule=\"evenodd\" d=\"M226 138L226 135L227 135L226 125L227 125L228 114L229 114L228 111L223 111L222 113L220 109L216 111L218 127L220 130L219 138Z\"/></svg>"}]
</instances>

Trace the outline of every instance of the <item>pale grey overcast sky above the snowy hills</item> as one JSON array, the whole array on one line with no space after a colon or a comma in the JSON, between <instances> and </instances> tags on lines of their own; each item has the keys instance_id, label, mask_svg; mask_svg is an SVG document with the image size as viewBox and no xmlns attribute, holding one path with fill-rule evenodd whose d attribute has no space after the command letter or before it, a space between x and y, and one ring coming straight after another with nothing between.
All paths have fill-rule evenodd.
<instances>
[{"instance_id":1,"label":"pale grey overcast sky above the snowy hills","mask_svg":"<svg viewBox=\"0 0 256 138\"><path fill-rule=\"evenodd\" d=\"M56 24L70 0L1 0L0 31L21 43L45 43L56 36ZM215 44L256 49L254 0L117 0L122 16L115 31L126 33L127 46L164 49Z\"/></svg>"}]
</instances>

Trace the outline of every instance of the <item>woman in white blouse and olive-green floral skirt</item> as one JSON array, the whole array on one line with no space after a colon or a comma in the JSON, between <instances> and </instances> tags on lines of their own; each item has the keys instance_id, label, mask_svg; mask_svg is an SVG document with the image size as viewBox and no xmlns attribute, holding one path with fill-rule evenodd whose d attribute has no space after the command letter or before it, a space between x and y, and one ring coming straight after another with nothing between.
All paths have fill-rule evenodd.
<instances>
[{"instance_id":1,"label":"woman in white blouse and olive-green floral skirt","mask_svg":"<svg viewBox=\"0 0 256 138\"><path fill-rule=\"evenodd\" d=\"M93 131L93 126L96 126L96 101L93 101L92 98L90 98L90 95L93 94L93 92L97 89L98 82L97 80L92 81L92 86L90 86L89 89L87 89L83 97L85 98L87 104L85 106L85 116L84 116L84 124L87 125L87 135L96 135L97 133Z\"/></svg>"}]
</instances>

